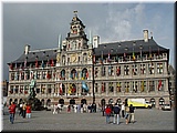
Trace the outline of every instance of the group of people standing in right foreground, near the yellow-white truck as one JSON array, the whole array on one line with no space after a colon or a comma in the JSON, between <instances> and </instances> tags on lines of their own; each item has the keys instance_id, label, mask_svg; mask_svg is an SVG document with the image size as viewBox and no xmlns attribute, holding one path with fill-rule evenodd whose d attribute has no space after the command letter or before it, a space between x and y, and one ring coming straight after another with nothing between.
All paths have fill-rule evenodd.
<instances>
[{"instance_id":1,"label":"group of people standing in right foreground, near the yellow-white truck","mask_svg":"<svg viewBox=\"0 0 177 133\"><path fill-rule=\"evenodd\" d=\"M129 106L125 105L124 103L122 105L117 103L114 105L107 104L104 110L106 115L106 123L111 123L111 116L113 116L113 124L119 124L121 116L125 119L126 124L131 122L134 123L134 110L135 108L132 104Z\"/></svg>"}]
</instances>

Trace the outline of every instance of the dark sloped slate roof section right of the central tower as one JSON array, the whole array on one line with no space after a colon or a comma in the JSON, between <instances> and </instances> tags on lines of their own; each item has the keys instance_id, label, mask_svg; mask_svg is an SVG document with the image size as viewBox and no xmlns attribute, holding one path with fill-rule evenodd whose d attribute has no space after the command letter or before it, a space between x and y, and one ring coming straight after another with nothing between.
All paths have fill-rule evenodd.
<instances>
[{"instance_id":1,"label":"dark sloped slate roof section right of the central tower","mask_svg":"<svg viewBox=\"0 0 177 133\"><path fill-rule=\"evenodd\" d=\"M135 45L134 45L135 43ZM148 39L148 42L145 42L144 40L133 40L133 41L124 41L124 42L111 42L111 43L103 43L100 44L98 48L95 49L95 54L100 55L102 54L123 54L126 52L127 54L131 53L139 53L140 52L140 45L142 45L142 52L157 52L157 51L168 51L168 49L163 48L158 45L154 39ZM125 50L127 49L127 50Z\"/></svg>"}]
</instances>

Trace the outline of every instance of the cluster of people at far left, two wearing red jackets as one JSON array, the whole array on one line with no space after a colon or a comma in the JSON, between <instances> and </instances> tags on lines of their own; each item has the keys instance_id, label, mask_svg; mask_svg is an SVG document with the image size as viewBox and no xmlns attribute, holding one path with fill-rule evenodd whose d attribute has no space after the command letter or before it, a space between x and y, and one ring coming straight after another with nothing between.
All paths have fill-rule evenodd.
<instances>
[{"instance_id":1,"label":"cluster of people at far left, two wearing red jackets","mask_svg":"<svg viewBox=\"0 0 177 133\"><path fill-rule=\"evenodd\" d=\"M9 109L9 115L10 115L10 122L13 124L14 122L14 114L17 111L17 108L19 108L19 115L23 119L30 119L31 117L31 105L29 103L20 103L18 106L14 102L11 102L11 104L8 106Z\"/></svg>"}]
</instances>

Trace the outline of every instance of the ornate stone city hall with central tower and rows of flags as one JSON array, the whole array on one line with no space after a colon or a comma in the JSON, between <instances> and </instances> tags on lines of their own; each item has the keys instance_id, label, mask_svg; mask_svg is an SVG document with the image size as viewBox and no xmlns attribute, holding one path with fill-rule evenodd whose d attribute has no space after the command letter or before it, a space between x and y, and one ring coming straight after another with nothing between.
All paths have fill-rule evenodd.
<instances>
[{"instance_id":1,"label":"ornate stone city hall with central tower and rows of flags","mask_svg":"<svg viewBox=\"0 0 177 133\"><path fill-rule=\"evenodd\" d=\"M8 102L20 103L35 81L37 98L54 103L107 104L128 98L144 98L159 108L169 103L169 49L156 43L143 30L139 40L100 43L100 37L84 32L74 13L70 31L53 49L31 50L8 63Z\"/></svg>"}]
</instances>

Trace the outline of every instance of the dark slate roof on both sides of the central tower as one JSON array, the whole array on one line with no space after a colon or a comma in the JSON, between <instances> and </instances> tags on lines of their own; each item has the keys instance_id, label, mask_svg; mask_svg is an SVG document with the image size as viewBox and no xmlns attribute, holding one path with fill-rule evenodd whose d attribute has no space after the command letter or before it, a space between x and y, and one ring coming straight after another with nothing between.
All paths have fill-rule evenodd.
<instances>
[{"instance_id":1,"label":"dark slate roof on both sides of the central tower","mask_svg":"<svg viewBox=\"0 0 177 133\"><path fill-rule=\"evenodd\" d=\"M133 45L135 43L135 45ZM118 47L119 45L119 47ZM148 42L145 42L144 40L133 40L133 41L124 41L124 42L111 42L111 43L102 43L98 44L98 48L95 48L95 55L101 55L102 51L104 55L107 55L108 52L111 55L113 54L123 54L126 52L127 54L132 54L133 51L135 53L139 53L142 45L142 51L145 52L157 52L157 51L168 51L169 49L163 48L158 45L153 39L149 39ZM127 50L125 50L127 48ZM10 62L10 63L21 63L24 62L25 58L28 62L34 62L37 57L38 61L46 61L46 60L55 60L58 49L46 49L46 50L35 50L30 51L28 54L21 54L20 58L17 60Z\"/></svg>"}]
</instances>

